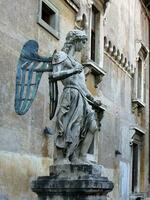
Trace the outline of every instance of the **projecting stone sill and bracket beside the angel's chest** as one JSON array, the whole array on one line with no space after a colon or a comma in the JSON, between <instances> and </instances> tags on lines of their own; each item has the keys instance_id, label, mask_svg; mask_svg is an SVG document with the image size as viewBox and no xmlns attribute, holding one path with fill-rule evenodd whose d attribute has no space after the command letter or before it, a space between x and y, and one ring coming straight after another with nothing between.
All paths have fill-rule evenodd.
<instances>
[{"instance_id":1,"label":"projecting stone sill and bracket beside the angel's chest","mask_svg":"<svg viewBox=\"0 0 150 200\"><path fill-rule=\"evenodd\" d=\"M83 66L86 69L85 75L92 73L95 76L95 87L97 87L98 84L102 81L102 78L106 74L106 72L92 60L83 63Z\"/></svg>"}]
</instances>

